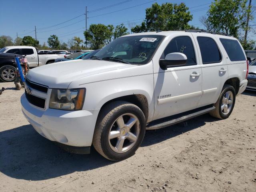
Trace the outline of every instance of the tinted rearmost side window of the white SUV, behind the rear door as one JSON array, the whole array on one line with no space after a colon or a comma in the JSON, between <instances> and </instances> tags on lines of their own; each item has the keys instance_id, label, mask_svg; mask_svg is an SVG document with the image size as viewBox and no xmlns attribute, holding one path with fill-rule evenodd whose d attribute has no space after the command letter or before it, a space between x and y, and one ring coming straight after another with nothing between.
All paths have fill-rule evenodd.
<instances>
[{"instance_id":1,"label":"tinted rearmost side window of the white SUV, behind the rear door","mask_svg":"<svg viewBox=\"0 0 256 192\"><path fill-rule=\"evenodd\" d=\"M244 52L237 40L220 38L230 61L245 61Z\"/></svg>"}]
</instances>

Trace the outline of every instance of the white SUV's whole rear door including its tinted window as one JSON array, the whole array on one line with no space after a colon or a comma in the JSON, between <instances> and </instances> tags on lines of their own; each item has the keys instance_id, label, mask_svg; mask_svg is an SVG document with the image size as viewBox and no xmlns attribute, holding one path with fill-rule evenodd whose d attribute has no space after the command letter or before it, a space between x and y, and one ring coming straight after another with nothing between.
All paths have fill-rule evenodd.
<instances>
[{"instance_id":1,"label":"white SUV's whole rear door including its tinted window","mask_svg":"<svg viewBox=\"0 0 256 192\"><path fill-rule=\"evenodd\" d=\"M198 107L214 104L228 79L228 66L218 46L218 39L211 34L193 33L200 64L202 65L202 97Z\"/></svg>"}]
</instances>

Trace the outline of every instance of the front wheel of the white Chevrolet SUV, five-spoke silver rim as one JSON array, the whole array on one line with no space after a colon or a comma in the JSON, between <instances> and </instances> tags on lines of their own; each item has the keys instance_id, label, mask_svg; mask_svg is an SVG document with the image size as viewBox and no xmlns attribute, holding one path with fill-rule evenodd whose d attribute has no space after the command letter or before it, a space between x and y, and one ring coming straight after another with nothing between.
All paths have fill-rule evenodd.
<instances>
[{"instance_id":1,"label":"front wheel of the white Chevrolet SUV, five-spoke silver rim","mask_svg":"<svg viewBox=\"0 0 256 192\"><path fill-rule=\"evenodd\" d=\"M109 160L124 160L132 156L142 143L145 122L138 106L124 101L110 103L98 116L93 146Z\"/></svg>"}]
</instances>

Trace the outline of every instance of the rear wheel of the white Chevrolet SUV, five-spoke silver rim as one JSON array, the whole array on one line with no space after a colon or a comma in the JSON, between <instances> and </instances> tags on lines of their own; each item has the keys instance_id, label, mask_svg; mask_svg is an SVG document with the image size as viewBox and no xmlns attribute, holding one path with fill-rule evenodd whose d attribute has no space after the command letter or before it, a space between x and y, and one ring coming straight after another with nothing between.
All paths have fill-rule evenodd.
<instances>
[{"instance_id":1,"label":"rear wheel of the white Chevrolet SUV, five-spoke silver rim","mask_svg":"<svg viewBox=\"0 0 256 192\"><path fill-rule=\"evenodd\" d=\"M228 118L233 111L235 102L236 91L234 87L230 85L224 85L217 102L214 104L216 108L210 112L210 115L219 119Z\"/></svg>"}]
</instances>

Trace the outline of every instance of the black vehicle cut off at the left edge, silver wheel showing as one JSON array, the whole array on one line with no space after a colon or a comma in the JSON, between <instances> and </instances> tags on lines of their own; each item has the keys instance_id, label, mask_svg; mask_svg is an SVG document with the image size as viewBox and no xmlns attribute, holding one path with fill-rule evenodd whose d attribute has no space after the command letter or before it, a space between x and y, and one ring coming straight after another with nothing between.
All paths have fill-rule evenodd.
<instances>
[{"instance_id":1,"label":"black vehicle cut off at the left edge, silver wheel showing","mask_svg":"<svg viewBox=\"0 0 256 192\"><path fill-rule=\"evenodd\" d=\"M15 57L23 58L22 55L0 53L0 80L3 82L14 81L16 62Z\"/></svg>"}]
</instances>

